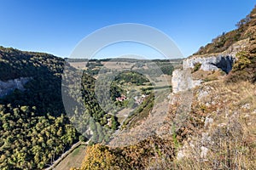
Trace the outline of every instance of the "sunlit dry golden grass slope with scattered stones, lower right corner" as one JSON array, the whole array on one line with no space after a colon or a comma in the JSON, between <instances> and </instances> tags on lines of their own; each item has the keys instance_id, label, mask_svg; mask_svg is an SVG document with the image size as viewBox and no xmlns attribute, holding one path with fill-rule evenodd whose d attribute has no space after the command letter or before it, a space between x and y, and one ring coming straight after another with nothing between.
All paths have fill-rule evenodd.
<instances>
[{"instance_id":1,"label":"sunlit dry golden grass slope with scattered stones, lower right corner","mask_svg":"<svg viewBox=\"0 0 256 170\"><path fill-rule=\"evenodd\" d=\"M249 82L208 82L195 89L192 110L205 112L201 118L210 117L212 123L181 139L183 158L157 161L150 169L256 169L255 93ZM202 147L207 148L206 155Z\"/></svg>"}]
</instances>

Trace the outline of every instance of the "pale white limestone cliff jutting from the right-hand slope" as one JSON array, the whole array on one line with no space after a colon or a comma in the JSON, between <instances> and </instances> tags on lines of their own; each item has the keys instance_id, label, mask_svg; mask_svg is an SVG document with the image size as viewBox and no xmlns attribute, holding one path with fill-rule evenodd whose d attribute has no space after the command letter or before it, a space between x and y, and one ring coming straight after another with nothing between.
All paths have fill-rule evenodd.
<instances>
[{"instance_id":1,"label":"pale white limestone cliff jutting from the right-hand slope","mask_svg":"<svg viewBox=\"0 0 256 170\"><path fill-rule=\"evenodd\" d=\"M191 69L201 65L199 69L203 71L222 70L229 73L232 70L234 62L236 62L236 54L245 48L249 40L244 39L234 43L227 50L218 54L192 55L187 59L183 59L183 70L175 70L172 72L172 92L177 93L195 88L201 84L201 80L193 80Z\"/></svg>"}]
</instances>

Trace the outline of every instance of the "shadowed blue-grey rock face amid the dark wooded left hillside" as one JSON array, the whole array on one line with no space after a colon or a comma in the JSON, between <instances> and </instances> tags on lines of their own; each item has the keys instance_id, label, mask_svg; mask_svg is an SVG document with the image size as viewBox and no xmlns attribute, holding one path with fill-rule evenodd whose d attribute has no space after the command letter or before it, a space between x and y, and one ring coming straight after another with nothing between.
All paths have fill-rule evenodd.
<instances>
[{"instance_id":1,"label":"shadowed blue-grey rock face amid the dark wooded left hillside","mask_svg":"<svg viewBox=\"0 0 256 170\"><path fill-rule=\"evenodd\" d=\"M28 82L31 77L20 77L14 80L9 80L7 82L0 81L0 98L3 96L10 94L15 89L25 90L24 85Z\"/></svg>"}]
</instances>

